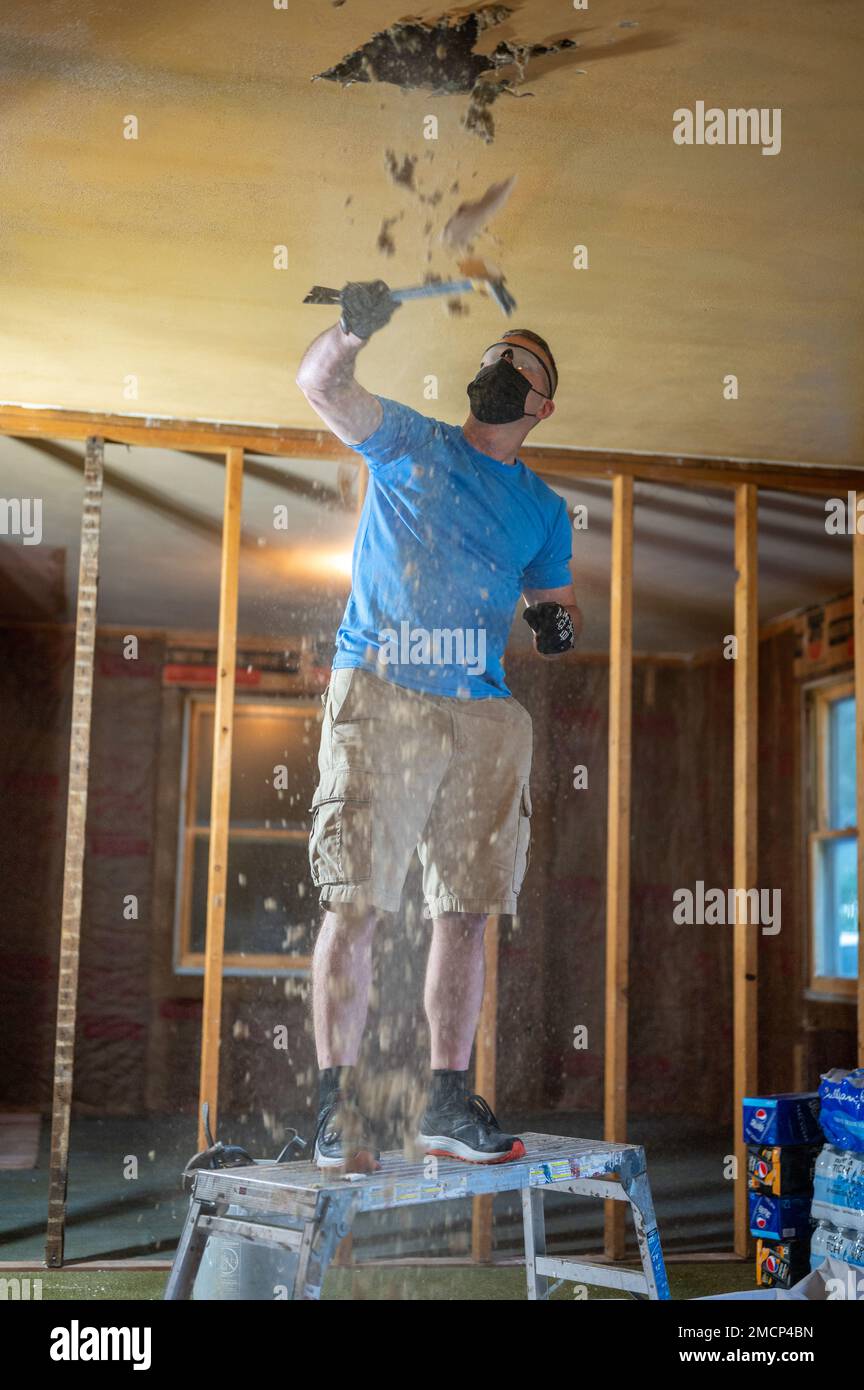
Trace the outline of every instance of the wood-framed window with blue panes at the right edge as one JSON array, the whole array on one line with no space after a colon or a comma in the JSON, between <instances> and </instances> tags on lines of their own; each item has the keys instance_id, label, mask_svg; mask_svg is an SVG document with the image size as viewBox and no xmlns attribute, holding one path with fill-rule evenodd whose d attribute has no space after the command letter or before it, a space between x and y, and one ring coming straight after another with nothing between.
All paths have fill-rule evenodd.
<instances>
[{"instance_id":1,"label":"wood-framed window with blue panes at the right edge","mask_svg":"<svg viewBox=\"0 0 864 1390\"><path fill-rule=\"evenodd\" d=\"M851 681L808 692L811 988L851 995L858 973L856 705Z\"/></svg>"}]
</instances>

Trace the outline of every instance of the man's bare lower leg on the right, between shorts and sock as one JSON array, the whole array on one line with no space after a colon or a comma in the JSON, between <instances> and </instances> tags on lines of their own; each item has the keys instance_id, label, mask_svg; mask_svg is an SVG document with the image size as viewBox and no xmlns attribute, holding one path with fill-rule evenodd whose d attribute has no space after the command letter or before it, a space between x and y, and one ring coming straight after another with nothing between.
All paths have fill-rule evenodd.
<instances>
[{"instance_id":1,"label":"man's bare lower leg on the right, between shorts and sock","mask_svg":"<svg viewBox=\"0 0 864 1390\"><path fill-rule=\"evenodd\" d=\"M432 922L424 1004L432 1070L467 1072L483 1002L486 916L449 912Z\"/></svg>"}]
</instances>

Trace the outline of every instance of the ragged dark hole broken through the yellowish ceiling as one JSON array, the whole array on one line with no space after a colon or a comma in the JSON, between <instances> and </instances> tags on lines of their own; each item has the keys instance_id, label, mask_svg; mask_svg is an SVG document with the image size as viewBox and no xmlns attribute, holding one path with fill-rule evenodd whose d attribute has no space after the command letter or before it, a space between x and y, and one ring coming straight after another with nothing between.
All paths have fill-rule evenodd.
<instances>
[{"instance_id":1,"label":"ragged dark hole broken through the yellowish ceiling","mask_svg":"<svg viewBox=\"0 0 864 1390\"><path fill-rule=\"evenodd\" d=\"M503 39L493 53L475 53L474 44L479 35L503 24L513 13L507 6L490 4L461 18L442 15L436 21L399 19L389 29L374 33L332 68L317 72L313 81L339 82L342 86L353 82L392 82L403 90L422 88L438 95L467 92L471 101L463 124L467 131L489 142L495 136L490 113L493 101L503 92L511 96L520 93L511 79L490 81L483 74L513 67L515 81L521 82L531 58L576 47L572 39L561 39L553 44L513 43Z\"/></svg>"}]
</instances>

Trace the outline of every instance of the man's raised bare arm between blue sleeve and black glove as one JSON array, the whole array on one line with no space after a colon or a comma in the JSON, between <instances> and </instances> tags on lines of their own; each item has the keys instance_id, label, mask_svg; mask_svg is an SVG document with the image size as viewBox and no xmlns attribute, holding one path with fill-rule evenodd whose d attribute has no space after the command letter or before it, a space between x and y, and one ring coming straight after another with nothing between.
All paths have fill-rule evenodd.
<instances>
[{"instance_id":1,"label":"man's raised bare arm between blue sleeve and black glove","mask_svg":"<svg viewBox=\"0 0 864 1390\"><path fill-rule=\"evenodd\" d=\"M354 379L354 361L365 345L365 338L333 324L306 350L297 371L300 391L343 443L363 443L383 416L381 402Z\"/></svg>"}]
</instances>

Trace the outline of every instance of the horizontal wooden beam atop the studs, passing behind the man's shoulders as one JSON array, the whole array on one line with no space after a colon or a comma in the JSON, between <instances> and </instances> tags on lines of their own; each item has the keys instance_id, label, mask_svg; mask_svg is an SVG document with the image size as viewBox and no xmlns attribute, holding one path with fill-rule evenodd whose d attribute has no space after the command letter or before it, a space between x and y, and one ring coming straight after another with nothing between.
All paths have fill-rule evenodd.
<instances>
[{"instance_id":1,"label":"horizontal wooden beam atop the studs, passing behind the man's shoulders","mask_svg":"<svg viewBox=\"0 0 864 1390\"><path fill-rule=\"evenodd\" d=\"M63 410L0 403L0 434L42 439L85 439L99 434L111 443L138 443L150 449L208 450L246 449L283 457L336 459L360 466L360 456L329 430L292 430L243 421L178 420L169 416L133 416L104 411ZM628 453L606 449L528 446L520 457L547 477L614 478L695 486L754 486L782 492L817 492L838 496L861 484L861 467L788 463L756 459L722 459L704 455Z\"/></svg>"}]
</instances>

